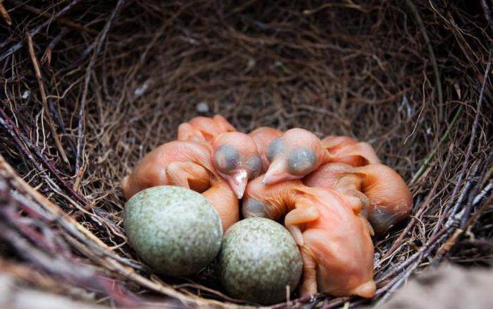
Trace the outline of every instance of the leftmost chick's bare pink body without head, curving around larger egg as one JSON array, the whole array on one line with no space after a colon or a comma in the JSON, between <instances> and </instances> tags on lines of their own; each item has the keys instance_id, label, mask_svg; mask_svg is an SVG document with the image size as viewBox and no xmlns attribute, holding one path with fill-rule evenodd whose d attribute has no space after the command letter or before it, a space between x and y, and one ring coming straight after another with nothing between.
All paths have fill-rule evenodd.
<instances>
[{"instance_id":1,"label":"leftmost chick's bare pink body without head, curving around larger egg","mask_svg":"<svg viewBox=\"0 0 493 309\"><path fill-rule=\"evenodd\" d=\"M202 143L175 140L156 147L121 181L125 198L154 186L182 186L202 193L218 211L226 231L239 219L235 193L216 174L211 150Z\"/></svg>"}]
</instances>

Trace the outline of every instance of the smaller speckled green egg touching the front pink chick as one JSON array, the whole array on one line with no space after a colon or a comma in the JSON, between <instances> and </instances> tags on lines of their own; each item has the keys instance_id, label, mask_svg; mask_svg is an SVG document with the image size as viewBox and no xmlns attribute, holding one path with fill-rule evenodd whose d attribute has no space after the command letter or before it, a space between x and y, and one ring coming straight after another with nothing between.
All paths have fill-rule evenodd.
<instances>
[{"instance_id":1,"label":"smaller speckled green egg touching the front pink chick","mask_svg":"<svg viewBox=\"0 0 493 309\"><path fill-rule=\"evenodd\" d=\"M268 305L294 291L303 261L284 226L266 218L248 218L228 229L219 253L220 281L227 293Z\"/></svg>"}]
</instances>

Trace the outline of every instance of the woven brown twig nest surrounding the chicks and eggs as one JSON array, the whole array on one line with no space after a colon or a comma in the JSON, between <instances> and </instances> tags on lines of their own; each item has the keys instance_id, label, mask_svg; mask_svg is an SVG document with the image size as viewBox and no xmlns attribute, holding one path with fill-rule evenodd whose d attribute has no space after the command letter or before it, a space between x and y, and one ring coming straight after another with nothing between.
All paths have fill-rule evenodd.
<instances>
[{"instance_id":1,"label":"woven brown twig nest surrounding the chicks and eggs","mask_svg":"<svg viewBox=\"0 0 493 309\"><path fill-rule=\"evenodd\" d=\"M373 300L445 261L491 265L492 2L0 1L0 273L101 305L246 305L214 265L153 274L118 181L199 114L371 143L412 216L374 238ZM10 24L10 25L9 25ZM37 298L32 298L37 299Z\"/></svg>"}]
</instances>

